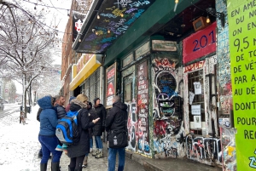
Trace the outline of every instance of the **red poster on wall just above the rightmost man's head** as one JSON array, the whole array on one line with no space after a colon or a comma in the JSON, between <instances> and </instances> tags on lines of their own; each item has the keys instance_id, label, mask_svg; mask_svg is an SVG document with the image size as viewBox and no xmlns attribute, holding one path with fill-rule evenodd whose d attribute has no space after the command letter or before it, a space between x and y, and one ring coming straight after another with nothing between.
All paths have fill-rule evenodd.
<instances>
[{"instance_id":1,"label":"red poster on wall just above the rightmost man's head","mask_svg":"<svg viewBox=\"0 0 256 171\"><path fill-rule=\"evenodd\" d=\"M116 83L116 63L112 66L109 66L106 70L106 108L112 107L113 96L115 95L115 83Z\"/></svg>"}]
</instances>

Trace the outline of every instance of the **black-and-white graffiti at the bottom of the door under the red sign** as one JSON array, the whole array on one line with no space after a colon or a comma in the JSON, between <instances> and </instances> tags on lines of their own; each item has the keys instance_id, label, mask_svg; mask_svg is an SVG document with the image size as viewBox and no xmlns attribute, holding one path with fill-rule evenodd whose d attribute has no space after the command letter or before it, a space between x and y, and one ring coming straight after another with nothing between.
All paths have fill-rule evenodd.
<instances>
[{"instance_id":1,"label":"black-and-white graffiti at the bottom of the door under the red sign","mask_svg":"<svg viewBox=\"0 0 256 171\"><path fill-rule=\"evenodd\" d=\"M194 134L186 136L187 157L191 160L212 165L222 162L221 143L216 138L196 137Z\"/></svg>"}]
</instances>

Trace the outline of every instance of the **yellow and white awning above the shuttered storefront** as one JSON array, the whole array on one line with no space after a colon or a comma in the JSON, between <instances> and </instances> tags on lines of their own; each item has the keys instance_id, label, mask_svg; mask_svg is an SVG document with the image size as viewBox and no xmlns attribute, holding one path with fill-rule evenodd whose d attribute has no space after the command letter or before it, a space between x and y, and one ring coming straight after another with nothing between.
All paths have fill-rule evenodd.
<instances>
[{"instance_id":1,"label":"yellow and white awning above the shuttered storefront","mask_svg":"<svg viewBox=\"0 0 256 171\"><path fill-rule=\"evenodd\" d=\"M73 91L77 88L87 77L96 71L98 67L102 66L102 64L96 59L96 54L93 55L90 60L84 65L79 74L73 78L72 82L69 84L69 89Z\"/></svg>"}]
</instances>

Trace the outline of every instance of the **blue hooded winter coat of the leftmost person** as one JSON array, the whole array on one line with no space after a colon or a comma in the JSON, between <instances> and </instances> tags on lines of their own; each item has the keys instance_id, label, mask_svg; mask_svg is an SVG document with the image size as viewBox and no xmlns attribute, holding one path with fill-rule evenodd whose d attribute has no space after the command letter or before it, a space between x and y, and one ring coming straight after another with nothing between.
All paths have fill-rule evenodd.
<instances>
[{"instance_id":1,"label":"blue hooded winter coat of the leftmost person","mask_svg":"<svg viewBox=\"0 0 256 171\"><path fill-rule=\"evenodd\" d=\"M51 105L51 97L45 96L38 100L38 105L43 109L41 111L40 119L40 135L55 135L55 128L57 125L57 114L55 107Z\"/></svg>"}]
</instances>

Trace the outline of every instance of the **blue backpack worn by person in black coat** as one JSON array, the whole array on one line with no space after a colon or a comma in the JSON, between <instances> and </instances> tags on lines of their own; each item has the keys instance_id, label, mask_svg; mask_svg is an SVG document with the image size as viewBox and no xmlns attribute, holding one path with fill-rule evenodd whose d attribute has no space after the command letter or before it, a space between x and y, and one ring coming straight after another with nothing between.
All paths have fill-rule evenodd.
<instances>
[{"instance_id":1,"label":"blue backpack worn by person in black coat","mask_svg":"<svg viewBox=\"0 0 256 171\"><path fill-rule=\"evenodd\" d=\"M80 111L80 110L79 110ZM78 128L79 111L68 111L65 117L59 119L55 135L65 145L76 145L80 140Z\"/></svg>"}]
</instances>

